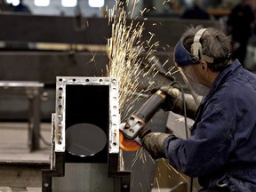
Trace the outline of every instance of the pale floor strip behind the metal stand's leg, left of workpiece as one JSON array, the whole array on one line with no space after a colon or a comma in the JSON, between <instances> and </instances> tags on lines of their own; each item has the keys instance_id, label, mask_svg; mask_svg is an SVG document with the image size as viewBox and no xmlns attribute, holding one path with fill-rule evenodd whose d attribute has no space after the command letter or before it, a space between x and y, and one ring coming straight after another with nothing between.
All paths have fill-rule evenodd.
<instances>
[{"instance_id":1,"label":"pale floor strip behind the metal stand's leg, left of workpiece","mask_svg":"<svg viewBox=\"0 0 256 192\"><path fill-rule=\"evenodd\" d=\"M28 124L0 123L0 162L50 162L50 141L51 124L41 124L40 149L29 152Z\"/></svg>"}]
</instances>

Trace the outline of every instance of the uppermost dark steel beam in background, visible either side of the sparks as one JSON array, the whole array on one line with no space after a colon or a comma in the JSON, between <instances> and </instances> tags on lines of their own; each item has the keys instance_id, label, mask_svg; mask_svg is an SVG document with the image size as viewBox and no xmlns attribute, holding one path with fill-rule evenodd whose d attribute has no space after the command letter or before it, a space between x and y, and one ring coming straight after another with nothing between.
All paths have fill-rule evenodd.
<instances>
[{"instance_id":1,"label":"uppermost dark steel beam in background, visible either side of the sparks","mask_svg":"<svg viewBox=\"0 0 256 192\"><path fill-rule=\"evenodd\" d=\"M127 20L127 25L131 20ZM166 44L173 46L177 43L185 28L190 25L214 26L219 28L217 20L181 20L177 18L138 18L136 21L145 23L143 39L148 40L155 34L162 49ZM26 14L0 15L0 41L4 42L41 42L63 44L107 44L111 36L111 26L108 18L82 18L39 16ZM148 33L150 32L150 33ZM152 41L154 42L154 41Z\"/></svg>"}]
</instances>

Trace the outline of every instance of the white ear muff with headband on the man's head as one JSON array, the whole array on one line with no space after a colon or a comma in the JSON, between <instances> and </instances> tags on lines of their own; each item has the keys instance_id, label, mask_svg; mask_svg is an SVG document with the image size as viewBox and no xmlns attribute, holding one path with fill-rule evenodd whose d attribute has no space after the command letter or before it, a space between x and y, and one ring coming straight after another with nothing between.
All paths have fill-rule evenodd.
<instances>
[{"instance_id":1,"label":"white ear muff with headband on the man's head","mask_svg":"<svg viewBox=\"0 0 256 192\"><path fill-rule=\"evenodd\" d=\"M207 28L201 28L199 31L197 31L196 35L194 36L194 42L191 45L191 53L197 58L197 60L202 59L202 44L200 44L200 38L206 29Z\"/></svg>"}]
</instances>

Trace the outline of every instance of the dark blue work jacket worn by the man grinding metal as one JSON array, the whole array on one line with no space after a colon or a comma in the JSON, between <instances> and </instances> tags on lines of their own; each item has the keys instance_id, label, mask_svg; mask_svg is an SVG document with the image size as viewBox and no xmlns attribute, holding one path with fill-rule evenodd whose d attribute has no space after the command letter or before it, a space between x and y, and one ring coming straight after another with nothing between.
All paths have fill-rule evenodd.
<instances>
[{"instance_id":1,"label":"dark blue work jacket worn by the man grinding metal","mask_svg":"<svg viewBox=\"0 0 256 192\"><path fill-rule=\"evenodd\" d=\"M235 60L215 79L187 140L171 136L165 155L203 188L256 191L256 76Z\"/></svg>"}]
</instances>

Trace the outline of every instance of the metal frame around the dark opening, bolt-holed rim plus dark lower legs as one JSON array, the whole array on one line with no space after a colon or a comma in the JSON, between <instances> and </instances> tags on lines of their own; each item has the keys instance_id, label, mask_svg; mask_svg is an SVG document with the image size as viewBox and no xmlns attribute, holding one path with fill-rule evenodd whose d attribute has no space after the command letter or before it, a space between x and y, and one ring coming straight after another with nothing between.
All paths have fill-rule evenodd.
<instances>
[{"instance_id":1,"label":"metal frame around the dark opening, bolt-holed rim plus dark lower legs","mask_svg":"<svg viewBox=\"0 0 256 192\"><path fill-rule=\"evenodd\" d=\"M51 167L42 172L42 188L44 192L52 191L52 177L65 175L66 156L66 93L67 85L106 85L109 87L108 98L108 175L116 178L116 190L130 191L131 172L120 171L119 161L119 100L118 79L115 77L83 77L57 76L56 77L56 108L52 114L52 154ZM89 100L92 102L92 100ZM93 100L97 102L97 100ZM76 163L76 162L73 162ZM81 180L82 181L82 180ZM79 182L79 180L78 180Z\"/></svg>"}]
</instances>

